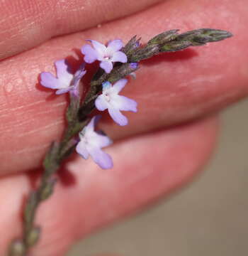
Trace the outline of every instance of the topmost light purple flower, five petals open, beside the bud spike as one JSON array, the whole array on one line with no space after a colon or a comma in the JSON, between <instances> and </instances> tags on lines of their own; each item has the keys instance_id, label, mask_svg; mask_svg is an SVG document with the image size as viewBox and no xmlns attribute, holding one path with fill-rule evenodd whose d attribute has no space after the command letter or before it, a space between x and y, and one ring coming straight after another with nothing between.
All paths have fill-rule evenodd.
<instances>
[{"instance_id":1,"label":"topmost light purple flower, five petals open, beside the bud spike","mask_svg":"<svg viewBox=\"0 0 248 256\"><path fill-rule=\"evenodd\" d=\"M123 48L123 41L120 39L110 41L108 46L104 46L102 43L94 40L87 41L92 43L93 48L89 44L81 48L81 52L84 54L84 61L86 63L93 63L95 60L101 61L100 67L103 68L106 73L111 73L113 63L126 63L128 61L125 53L120 51L120 49Z\"/></svg>"}]
</instances>

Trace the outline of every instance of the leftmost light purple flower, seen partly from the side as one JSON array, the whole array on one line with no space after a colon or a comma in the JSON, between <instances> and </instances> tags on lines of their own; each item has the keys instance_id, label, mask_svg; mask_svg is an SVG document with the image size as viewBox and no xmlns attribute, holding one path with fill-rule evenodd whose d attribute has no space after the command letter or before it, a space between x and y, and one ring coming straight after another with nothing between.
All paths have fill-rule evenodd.
<instances>
[{"instance_id":1,"label":"leftmost light purple flower, seen partly from the side","mask_svg":"<svg viewBox=\"0 0 248 256\"><path fill-rule=\"evenodd\" d=\"M55 92L57 95L69 91L77 94L79 81L86 73L84 66L85 63L73 75L66 60L57 60L55 62L57 78L50 72L43 72L40 74L40 84L44 87L57 90Z\"/></svg>"}]
</instances>

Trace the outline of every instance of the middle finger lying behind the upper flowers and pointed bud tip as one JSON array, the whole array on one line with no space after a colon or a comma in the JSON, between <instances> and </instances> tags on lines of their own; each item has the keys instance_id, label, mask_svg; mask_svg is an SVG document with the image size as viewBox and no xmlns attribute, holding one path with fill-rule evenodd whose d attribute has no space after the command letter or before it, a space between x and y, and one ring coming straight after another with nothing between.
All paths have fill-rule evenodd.
<instances>
[{"instance_id":1,"label":"middle finger lying behind the upper flowers and pointed bud tip","mask_svg":"<svg viewBox=\"0 0 248 256\"><path fill-rule=\"evenodd\" d=\"M205 4L203 0L196 5L192 1L180 3L181 9L176 9L174 1L166 1L136 16L106 24L101 30L55 38L37 49L2 61L1 174L40 166L50 142L60 138L67 105L65 96L51 100L49 95L54 92L34 85L38 73L54 72L52 63L70 54L68 49L79 48L82 38L106 41L118 35L128 40L137 33L144 35L145 42L164 30L161 17L170 20L167 29L182 27L185 31L196 26L215 26L235 34L235 38L227 41L174 55L164 54L143 63L137 71L137 80L128 83L122 91L123 95L137 100L137 114L125 113L130 120L127 127L118 127L113 122L102 125L113 139L198 118L246 96L248 16L242 1L235 5L232 1L219 2L222 12L228 14L225 19L217 15L214 5ZM213 17L204 19L204 11ZM137 25L133 26L134 23Z\"/></svg>"}]
</instances>

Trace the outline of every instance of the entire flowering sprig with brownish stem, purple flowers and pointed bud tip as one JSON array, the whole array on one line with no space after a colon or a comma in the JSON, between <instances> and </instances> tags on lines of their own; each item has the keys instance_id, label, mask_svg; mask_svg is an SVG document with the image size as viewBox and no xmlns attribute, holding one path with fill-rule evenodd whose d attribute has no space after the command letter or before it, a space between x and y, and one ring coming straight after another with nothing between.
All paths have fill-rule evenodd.
<instances>
[{"instance_id":1,"label":"entire flowering sprig with brownish stem, purple flowers and pointed bud tip","mask_svg":"<svg viewBox=\"0 0 248 256\"><path fill-rule=\"evenodd\" d=\"M95 126L100 115L90 117L94 109L108 110L113 121L125 126L128 119L121 111L137 112L137 102L119 95L125 87L128 75L135 77L135 71L140 68L140 60L151 58L160 53L184 50L189 46L203 46L205 43L221 41L232 36L227 31L211 28L201 28L179 34L179 30L161 33L142 46L136 36L123 46L123 41L115 39L107 46L94 40L87 40L81 48L84 62L78 70L72 69L66 60L57 60L55 67L57 75L43 72L40 74L40 84L56 90L57 95L69 93L69 105L66 111L67 127L61 142L52 142L43 161L44 171L40 184L35 191L30 192L23 213L23 235L11 242L9 255L28 255L30 247L40 238L41 228L34 223L35 213L41 202L49 198L54 190L55 174L60 169L64 159L76 151L84 159L91 159L102 169L111 169L113 160L102 148L113 142L102 132L96 132ZM86 63L100 62L100 68L91 79L89 90L82 97L81 78L86 74Z\"/></svg>"}]
</instances>

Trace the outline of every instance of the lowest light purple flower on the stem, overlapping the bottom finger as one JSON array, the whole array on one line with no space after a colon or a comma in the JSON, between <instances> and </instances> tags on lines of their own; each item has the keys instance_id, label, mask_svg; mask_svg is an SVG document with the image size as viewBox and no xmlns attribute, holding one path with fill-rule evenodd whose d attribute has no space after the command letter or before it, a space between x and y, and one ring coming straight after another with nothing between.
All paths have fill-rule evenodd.
<instances>
[{"instance_id":1,"label":"lowest light purple flower on the stem, overlapping the bottom finger","mask_svg":"<svg viewBox=\"0 0 248 256\"><path fill-rule=\"evenodd\" d=\"M80 142L76 146L76 151L84 159L91 156L102 169L111 169L113 167L111 156L103 152L101 148L111 145L112 141L107 136L94 131L96 122L100 117L99 115L93 117L91 122L79 133Z\"/></svg>"}]
</instances>

